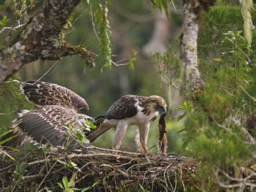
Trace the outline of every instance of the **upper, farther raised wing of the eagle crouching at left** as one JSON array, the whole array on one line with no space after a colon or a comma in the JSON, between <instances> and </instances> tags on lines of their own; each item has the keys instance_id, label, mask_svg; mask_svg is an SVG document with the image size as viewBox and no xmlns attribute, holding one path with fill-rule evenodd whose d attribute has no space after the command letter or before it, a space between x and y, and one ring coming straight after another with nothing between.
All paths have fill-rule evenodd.
<instances>
[{"instance_id":1,"label":"upper, farther raised wing of the eagle crouching at left","mask_svg":"<svg viewBox=\"0 0 256 192\"><path fill-rule=\"evenodd\" d=\"M20 92L36 106L60 105L74 110L88 111L86 101L76 93L58 84L30 80L20 85Z\"/></svg>"}]
</instances>

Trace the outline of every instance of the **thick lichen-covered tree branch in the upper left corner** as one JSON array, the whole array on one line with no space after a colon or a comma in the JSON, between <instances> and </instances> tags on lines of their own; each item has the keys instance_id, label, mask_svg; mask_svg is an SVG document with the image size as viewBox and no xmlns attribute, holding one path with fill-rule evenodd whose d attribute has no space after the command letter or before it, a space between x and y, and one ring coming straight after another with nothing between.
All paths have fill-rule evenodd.
<instances>
[{"instance_id":1,"label":"thick lichen-covered tree branch in the upper left corner","mask_svg":"<svg viewBox=\"0 0 256 192\"><path fill-rule=\"evenodd\" d=\"M0 50L0 84L23 65L42 60L60 60L79 54L93 67L93 54L82 46L72 46L61 33L67 19L81 0L48 0L42 10L28 21L12 43Z\"/></svg>"}]
</instances>

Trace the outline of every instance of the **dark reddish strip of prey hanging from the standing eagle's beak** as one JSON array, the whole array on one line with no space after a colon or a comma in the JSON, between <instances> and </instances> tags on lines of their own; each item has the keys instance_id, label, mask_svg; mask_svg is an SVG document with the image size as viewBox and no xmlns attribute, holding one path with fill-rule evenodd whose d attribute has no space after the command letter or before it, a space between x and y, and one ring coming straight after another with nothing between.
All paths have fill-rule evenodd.
<instances>
[{"instance_id":1,"label":"dark reddish strip of prey hanging from the standing eagle's beak","mask_svg":"<svg viewBox=\"0 0 256 192\"><path fill-rule=\"evenodd\" d=\"M158 123L160 152L163 156L166 155L167 151L166 124L164 117L165 115L161 115Z\"/></svg>"}]
</instances>

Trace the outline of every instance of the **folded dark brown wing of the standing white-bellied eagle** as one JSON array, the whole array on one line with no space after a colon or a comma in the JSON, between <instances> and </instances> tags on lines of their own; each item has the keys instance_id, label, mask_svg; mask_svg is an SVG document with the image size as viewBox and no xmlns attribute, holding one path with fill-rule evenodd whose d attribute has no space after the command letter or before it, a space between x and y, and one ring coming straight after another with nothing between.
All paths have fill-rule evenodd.
<instances>
[{"instance_id":1,"label":"folded dark brown wing of the standing white-bellied eagle","mask_svg":"<svg viewBox=\"0 0 256 192\"><path fill-rule=\"evenodd\" d=\"M143 96L125 95L108 109L104 118L108 119L123 119L129 118L138 113L138 105L141 100L145 99Z\"/></svg>"}]
</instances>

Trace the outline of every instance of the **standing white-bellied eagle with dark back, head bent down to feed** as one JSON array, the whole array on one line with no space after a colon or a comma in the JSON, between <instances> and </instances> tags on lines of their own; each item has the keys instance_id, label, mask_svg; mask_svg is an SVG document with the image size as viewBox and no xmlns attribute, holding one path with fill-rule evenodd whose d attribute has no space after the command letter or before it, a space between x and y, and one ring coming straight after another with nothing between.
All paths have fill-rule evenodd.
<instances>
[{"instance_id":1,"label":"standing white-bellied eagle with dark back, head bent down to feed","mask_svg":"<svg viewBox=\"0 0 256 192\"><path fill-rule=\"evenodd\" d=\"M158 113L166 115L166 102L162 97L153 95L143 97L137 95L125 95L108 109L103 116L96 118L97 129L93 129L88 135L92 143L102 133L111 127L116 127L113 149L120 148L125 132L129 125L137 125L136 144L138 150L147 152L147 139L150 123L156 120Z\"/></svg>"}]
</instances>

